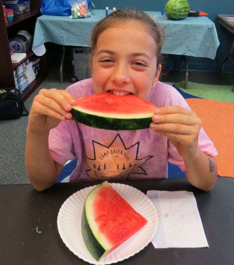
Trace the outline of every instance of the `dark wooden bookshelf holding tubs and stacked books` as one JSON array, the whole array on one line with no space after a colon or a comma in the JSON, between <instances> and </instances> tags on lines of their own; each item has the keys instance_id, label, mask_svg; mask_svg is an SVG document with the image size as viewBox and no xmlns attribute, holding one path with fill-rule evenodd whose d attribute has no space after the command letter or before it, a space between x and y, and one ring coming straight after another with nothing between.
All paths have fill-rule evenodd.
<instances>
[{"instance_id":1,"label":"dark wooden bookshelf holding tubs and stacked books","mask_svg":"<svg viewBox=\"0 0 234 265\"><path fill-rule=\"evenodd\" d=\"M2 0L0 0L0 4L0 12L2 12L3 14ZM21 15L15 15L13 21L11 23L8 23L7 25L5 24L4 16L0 16L0 88L15 87L13 70L16 69L17 66L23 63L25 60L30 59L30 57L32 56L35 56L32 49L29 49L26 52L26 58L21 60L19 63L12 63L8 40L15 34L17 34L17 32L19 32L20 30L26 30L31 35L34 34L37 17L41 16L40 7L40 0L31 0L30 11L24 12ZM30 83L29 86L22 92L22 97L24 100L26 100L48 76L46 56L43 55L40 58L40 70L38 71L36 79L33 80L33 82Z\"/></svg>"}]
</instances>

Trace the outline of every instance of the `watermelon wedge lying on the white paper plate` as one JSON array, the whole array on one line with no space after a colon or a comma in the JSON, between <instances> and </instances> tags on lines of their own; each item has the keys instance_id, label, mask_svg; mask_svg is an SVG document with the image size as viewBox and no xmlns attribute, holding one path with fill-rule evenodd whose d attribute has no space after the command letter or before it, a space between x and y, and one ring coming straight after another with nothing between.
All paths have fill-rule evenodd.
<instances>
[{"instance_id":1,"label":"watermelon wedge lying on the white paper plate","mask_svg":"<svg viewBox=\"0 0 234 265\"><path fill-rule=\"evenodd\" d=\"M81 232L98 261L141 229L147 220L104 181L88 194L82 211Z\"/></svg>"}]
</instances>

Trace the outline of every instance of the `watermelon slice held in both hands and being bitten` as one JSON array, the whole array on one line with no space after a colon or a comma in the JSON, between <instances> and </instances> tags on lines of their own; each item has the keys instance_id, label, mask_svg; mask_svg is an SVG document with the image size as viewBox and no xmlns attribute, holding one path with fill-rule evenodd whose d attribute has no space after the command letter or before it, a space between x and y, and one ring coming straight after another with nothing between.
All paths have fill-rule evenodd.
<instances>
[{"instance_id":1,"label":"watermelon slice held in both hands and being bitten","mask_svg":"<svg viewBox=\"0 0 234 265\"><path fill-rule=\"evenodd\" d=\"M73 120L87 126L118 131L149 128L156 108L133 94L118 96L101 92L76 98L70 112Z\"/></svg>"}]
</instances>

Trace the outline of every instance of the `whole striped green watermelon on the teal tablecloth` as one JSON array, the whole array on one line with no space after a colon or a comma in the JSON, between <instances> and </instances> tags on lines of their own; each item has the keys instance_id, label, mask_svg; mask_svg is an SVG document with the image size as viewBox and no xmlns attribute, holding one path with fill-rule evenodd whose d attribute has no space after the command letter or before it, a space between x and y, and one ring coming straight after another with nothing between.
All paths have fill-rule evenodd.
<instances>
[{"instance_id":1,"label":"whole striped green watermelon on the teal tablecloth","mask_svg":"<svg viewBox=\"0 0 234 265\"><path fill-rule=\"evenodd\" d=\"M187 0L170 0L166 3L164 11L169 19L184 19L190 10Z\"/></svg>"}]
</instances>

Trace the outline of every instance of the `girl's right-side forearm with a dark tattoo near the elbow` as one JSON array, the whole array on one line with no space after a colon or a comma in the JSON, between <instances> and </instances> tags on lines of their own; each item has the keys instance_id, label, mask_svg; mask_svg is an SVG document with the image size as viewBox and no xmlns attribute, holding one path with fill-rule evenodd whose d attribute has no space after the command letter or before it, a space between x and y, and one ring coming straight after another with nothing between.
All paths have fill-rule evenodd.
<instances>
[{"instance_id":1,"label":"girl's right-side forearm with a dark tattoo near the elbow","mask_svg":"<svg viewBox=\"0 0 234 265\"><path fill-rule=\"evenodd\" d=\"M209 191L217 179L217 164L214 158L204 154L200 148L193 157L184 158L188 181L203 191Z\"/></svg>"}]
</instances>

